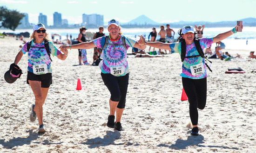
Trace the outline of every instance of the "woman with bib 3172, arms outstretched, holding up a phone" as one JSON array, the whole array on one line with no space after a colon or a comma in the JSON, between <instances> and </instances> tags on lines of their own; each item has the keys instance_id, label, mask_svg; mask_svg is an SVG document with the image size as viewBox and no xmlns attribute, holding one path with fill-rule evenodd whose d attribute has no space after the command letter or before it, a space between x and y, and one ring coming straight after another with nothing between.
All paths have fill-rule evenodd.
<instances>
[{"instance_id":1,"label":"woman with bib 3172, arms outstretched, holding up a phone","mask_svg":"<svg viewBox=\"0 0 256 153\"><path fill-rule=\"evenodd\" d=\"M236 26L231 31L218 34L213 38L201 38L199 39L200 46L202 50L206 47L210 47L211 44L228 38L233 33L236 33ZM243 28L243 26L242 26ZM184 91L189 99L189 115L190 120L193 125L191 135L198 135L198 111L197 108L203 109L206 105L206 93L207 93L207 72L204 63L204 58L202 57L192 57L198 56L199 53L195 47L195 32L192 26L184 26L178 31L180 37L178 38L178 43L161 43L161 42L146 42L145 38L141 38L139 41L141 44L149 45L151 47L160 48L164 50L171 50L172 53L179 53L181 55L181 42L185 41L186 54L185 59L182 64L182 85Z\"/></svg>"}]
</instances>

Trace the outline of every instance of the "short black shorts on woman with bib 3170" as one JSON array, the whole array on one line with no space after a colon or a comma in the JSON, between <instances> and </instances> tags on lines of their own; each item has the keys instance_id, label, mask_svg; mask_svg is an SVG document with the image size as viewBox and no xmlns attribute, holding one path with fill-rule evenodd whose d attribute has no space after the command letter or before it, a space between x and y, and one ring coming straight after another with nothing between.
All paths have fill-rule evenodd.
<instances>
[{"instance_id":1,"label":"short black shorts on woman with bib 3170","mask_svg":"<svg viewBox=\"0 0 256 153\"><path fill-rule=\"evenodd\" d=\"M40 81L41 88L49 88L50 85L53 83L52 73L36 75L32 72L27 71L27 84L29 84L28 80Z\"/></svg>"}]
</instances>

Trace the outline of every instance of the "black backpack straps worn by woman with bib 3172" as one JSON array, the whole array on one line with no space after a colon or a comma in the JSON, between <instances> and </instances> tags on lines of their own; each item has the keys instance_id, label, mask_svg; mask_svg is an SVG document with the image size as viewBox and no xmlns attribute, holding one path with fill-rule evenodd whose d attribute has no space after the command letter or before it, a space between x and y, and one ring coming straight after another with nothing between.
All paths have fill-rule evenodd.
<instances>
[{"instance_id":1,"label":"black backpack straps worn by woman with bib 3172","mask_svg":"<svg viewBox=\"0 0 256 153\"><path fill-rule=\"evenodd\" d=\"M199 43L199 39L195 38L194 42L195 42L196 50L197 50L197 52L199 53L199 55L188 56L188 57L186 57L186 42L185 42L185 40L183 40L183 41L181 42L181 45L182 45L182 52L181 52L181 59L182 59L182 62L184 61L185 58L194 58L194 57L202 57L202 58L204 58L205 61L206 61L206 60L209 61L209 59L206 58L207 56L204 56L204 53L203 53L203 51L202 51L202 47L201 47L201 45L200 45L200 43ZM211 61L209 61L209 62L212 63ZM210 69L210 67L208 66L208 64L205 63L205 66L207 66L207 68L212 72L212 70Z\"/></svg>"}]
</instances>

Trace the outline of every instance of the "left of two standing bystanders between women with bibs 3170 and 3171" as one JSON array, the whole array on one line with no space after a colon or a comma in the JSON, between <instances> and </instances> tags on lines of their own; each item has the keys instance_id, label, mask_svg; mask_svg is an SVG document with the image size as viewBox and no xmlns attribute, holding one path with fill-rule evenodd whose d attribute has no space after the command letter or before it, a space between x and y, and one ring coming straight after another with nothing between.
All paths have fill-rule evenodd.
<instances>
[{"instance_id":1,"label":"left of two standing bystanders between women with bibs 3170 and 3171","mask_svg":"<svg viewBox=\"0 0 256 153\"><path fill-rule=\"evenodd\" d=\"M85 38L85 35L84 35L86 30L87 29L84 26L80 28L80 33L78 35L78 42L77 42L77 44L86 42L86 38ZM82 59L82 54L83 54L83 58L84 59ZM78 49L78 60L79 60L79 65L89 64L88 61L87 61L86 50Z\"/></svg>"}]
</instances>

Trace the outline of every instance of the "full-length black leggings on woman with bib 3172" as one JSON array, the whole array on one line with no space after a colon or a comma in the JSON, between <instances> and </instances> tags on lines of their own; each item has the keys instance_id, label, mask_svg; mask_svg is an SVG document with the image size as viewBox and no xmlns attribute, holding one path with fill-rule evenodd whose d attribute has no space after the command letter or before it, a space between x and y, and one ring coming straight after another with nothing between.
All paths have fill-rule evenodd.
<instances>
[{"instance_id":1,"label":"full-length black leggings on woman with bib 3172","mask_svg":"<svg viewBox=\"0 0 256 153\"><path fill-rule=\"evenodd\" d=\"M189 99L189 116L193 125L198 124L197 108L203 109L206 105L207 79L190 79L182 77L182 85Z\"/></svg>"}]
</instances>

